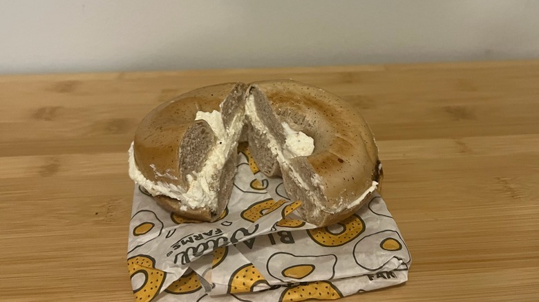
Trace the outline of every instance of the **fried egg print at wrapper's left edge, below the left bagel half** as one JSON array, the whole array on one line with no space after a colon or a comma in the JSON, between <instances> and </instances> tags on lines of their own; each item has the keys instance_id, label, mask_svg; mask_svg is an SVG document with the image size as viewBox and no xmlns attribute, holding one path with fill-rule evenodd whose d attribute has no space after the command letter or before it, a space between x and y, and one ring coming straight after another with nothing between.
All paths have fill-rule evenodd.
<instances>
[{"instance_id":1,"label":"fried egg print at wrapper's left edge, below the left bagel half","mask_svg":"<svg viewBox=\"0 0 539 302\"><path fill-rule=\"evenodd\" d=\"M131 217L131 223L129 223L129 232L135 239L129 241L129 252L133 252L133 250L157 238L160 236L162 230L163 223L154 212L150 210L136 212Z\"/></svg>"}]
</instances>

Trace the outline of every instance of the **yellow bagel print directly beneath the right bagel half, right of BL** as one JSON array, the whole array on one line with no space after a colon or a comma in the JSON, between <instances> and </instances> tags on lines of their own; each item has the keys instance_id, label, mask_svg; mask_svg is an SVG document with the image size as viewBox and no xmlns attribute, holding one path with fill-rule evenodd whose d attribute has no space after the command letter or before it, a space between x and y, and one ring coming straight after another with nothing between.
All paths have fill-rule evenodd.
<instances>
[{"instance_id":1,"label":"yellow bagel print directly beneath the right bagel half, right of BL","mask_svg":"<svg viewBox=\"0 0 539 302\"><path fill-rule=\"evenodd\" d=\"M334 232L332 228L341 228L338 232ZM365 223L357 214L344 219L341 222L334 225L327 226L325 228L316 228L307 230L307 234L311 239L326 248L332 248L336 246L345 245L346 243L354 240L365 231Z\"/></svg>"}]
</instances>

